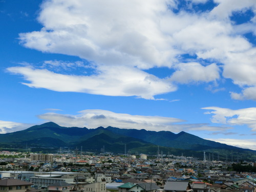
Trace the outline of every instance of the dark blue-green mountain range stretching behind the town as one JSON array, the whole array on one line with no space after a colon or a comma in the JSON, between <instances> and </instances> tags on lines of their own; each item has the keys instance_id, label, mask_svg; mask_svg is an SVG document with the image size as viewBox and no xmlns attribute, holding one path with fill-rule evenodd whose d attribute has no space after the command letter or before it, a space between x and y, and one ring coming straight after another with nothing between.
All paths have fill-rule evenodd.
<instances>
[{"instance_id":1,"label":"dark blue-green mountain range stretching behind the town","mask_svg":"<svg viewBox=\"0 0 256 192\"><path fill-rule=\"evenodd\" d=\"M84 151L112 153L146 153L157 152L175 156L194 156L203 158L203 152L214 160L252 160L256 151L239 148L215 141L202 139L186 132L178 134L168 131L146 131L119 129L117 127L64 127L54 122L29 127L23 131L0 134L2 147L27 146L32 148L82 147ZM208 157L208 156L207 156ZM211 159L211 160L212 160Z\"/></svg>"}]
</instances>

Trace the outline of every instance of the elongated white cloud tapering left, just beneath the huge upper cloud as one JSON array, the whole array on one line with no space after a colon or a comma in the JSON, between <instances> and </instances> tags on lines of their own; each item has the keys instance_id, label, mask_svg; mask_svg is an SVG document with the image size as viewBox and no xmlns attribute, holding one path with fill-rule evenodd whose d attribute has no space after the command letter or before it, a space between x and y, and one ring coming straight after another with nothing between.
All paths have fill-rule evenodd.
<instances>
[{"instance_id":1,"label":"elongated white cloud tapering left, just beneath the huge upper cloud","mask_svg":"<svg viewBox=\"0 0 256 192\"><path fill-rule=\"evenodd\" d=\"M23 83L32 88L45 88L59 92L82 92L109 96L138 96L154 99L153 95L175 91L164 79L159 79L136 68L116 66L98 67L99 74L76 76L57 74L46 69L32 67L12 67L8 71L23 74L30 83Z\"/></svg>"}]
</instances>

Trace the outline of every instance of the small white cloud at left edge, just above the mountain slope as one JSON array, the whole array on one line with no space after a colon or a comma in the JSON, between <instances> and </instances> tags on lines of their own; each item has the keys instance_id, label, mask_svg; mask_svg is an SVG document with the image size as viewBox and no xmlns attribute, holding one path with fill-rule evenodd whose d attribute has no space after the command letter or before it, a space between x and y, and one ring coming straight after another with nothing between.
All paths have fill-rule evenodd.
<instances>
[{"instance_id":1,"label":"small white cloud at left edge, just above the mountain slope","mask_svg":"<svg viewBox=\"0 0 256 192\"><path fill-rule=\"evenodd\" d=\"M0 120L0 134L25 130L30 126L32 126L32 124Z\"/></svg>"}]
</instances>

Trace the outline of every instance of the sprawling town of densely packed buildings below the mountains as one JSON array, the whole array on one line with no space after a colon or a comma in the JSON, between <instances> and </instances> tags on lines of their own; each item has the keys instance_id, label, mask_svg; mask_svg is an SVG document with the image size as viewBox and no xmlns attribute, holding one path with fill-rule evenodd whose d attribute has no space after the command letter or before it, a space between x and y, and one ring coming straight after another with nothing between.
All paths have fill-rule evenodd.
<instances>
[{"instance_id":1,"label":"sprawling town of densely packed buildings below the mountains","mask_svg":"<svg viewBox=\"0 0 256 192\"><path fill-rule=\"evenodd\" d=\"M255 162L217 161L205 158L205 153L203 160L77 150L57 154L2 151L0 157L0 192L256 191Z\"/></svg>"}]
</instances>

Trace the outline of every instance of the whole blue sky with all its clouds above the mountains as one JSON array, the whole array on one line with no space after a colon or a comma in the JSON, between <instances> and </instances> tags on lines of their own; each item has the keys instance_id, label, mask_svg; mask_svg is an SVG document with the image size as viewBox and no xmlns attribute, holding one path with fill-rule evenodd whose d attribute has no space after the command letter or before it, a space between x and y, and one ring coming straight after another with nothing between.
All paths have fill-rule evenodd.
<instances>
[{"instance_id":1,"label":"whole blue sky with all its clouds above the mountains","mask_svg":"<svg viewBox=\"0 0 256 192\"><path fill-rule=\"evenodd\" d=\"M48 121L256 150L254 0L0 1L0 133Z\"/></svg>"}]
</instances>

